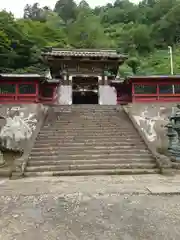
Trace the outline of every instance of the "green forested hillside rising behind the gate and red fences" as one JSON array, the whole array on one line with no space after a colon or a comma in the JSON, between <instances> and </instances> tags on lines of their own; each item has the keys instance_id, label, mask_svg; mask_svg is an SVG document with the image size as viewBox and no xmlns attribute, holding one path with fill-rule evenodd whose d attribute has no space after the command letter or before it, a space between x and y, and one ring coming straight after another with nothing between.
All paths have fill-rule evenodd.
<instances>
[{"instance_id":1,"label":"green forested hillside rising behind the gate and red fences","mask_svg":"<svg viewBox=\"0 0 180 240\"><path fill-rule=\"evenodd\" d=\"M121 76L170 74L172 46L174 73L179 74L179 40L180 0L116 0L94 9L83 0L59 0L54 9L28 4L21 19L0 12L0 72L41 73L41 50L53 46L128 54Z\"/></svg>"}]
</instances>

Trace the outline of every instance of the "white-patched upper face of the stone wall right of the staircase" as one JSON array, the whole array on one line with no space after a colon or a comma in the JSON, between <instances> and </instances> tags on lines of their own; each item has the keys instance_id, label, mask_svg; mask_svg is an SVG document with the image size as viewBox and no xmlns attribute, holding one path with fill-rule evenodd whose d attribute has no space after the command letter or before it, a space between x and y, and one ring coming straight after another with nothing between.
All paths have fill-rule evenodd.
<instances>
[{"instance_id":1,"label":"white-patched upper face of the stone wall right of the staircase","mask_svg":"<svg viewBox=\"0 0 180 240\"><path fill-rule=\"evenodd\" d=\"M167 149L166 124L168 117L177 110L177 103L129 104L126 110L133 117L148 142L157 149Z\"/></svg>"}]
</instances>

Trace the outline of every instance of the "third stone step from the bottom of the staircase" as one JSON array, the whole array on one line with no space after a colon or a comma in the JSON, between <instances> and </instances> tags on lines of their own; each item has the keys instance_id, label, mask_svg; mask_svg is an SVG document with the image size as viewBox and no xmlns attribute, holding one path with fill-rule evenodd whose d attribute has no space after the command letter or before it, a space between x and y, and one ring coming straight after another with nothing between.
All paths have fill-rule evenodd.
<instances>
[{"instance_id":1,"label":"third stone step from the bottom of the staircase","mask_svg":"<svg viewBox=\"0 0 180 240\"><path fill-rule=\"evenodd\" d=\"M132 159L97 159L97 160L31 160L28 162L28 166L45 166L45 165L92 165L92 164L132 164L132 163L154 163L155 160L152 159L139 159L139 158L132 158Z\"/></svg>"}]
</instances>

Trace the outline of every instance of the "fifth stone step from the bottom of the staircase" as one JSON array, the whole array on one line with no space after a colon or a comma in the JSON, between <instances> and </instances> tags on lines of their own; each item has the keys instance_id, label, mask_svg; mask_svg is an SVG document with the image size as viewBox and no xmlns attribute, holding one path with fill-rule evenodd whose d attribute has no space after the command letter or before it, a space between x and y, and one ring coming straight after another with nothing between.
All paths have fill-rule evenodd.
<instances>
[{"instance_id":1,"label":"fifth stone step from the bottom of the staircase","mask_svg":"<svg viewBox=\"0 0 180 240\"><path fill-rule=\"evenodd\" d=\"M34 156L52 156L52 155L59 155L59 154L68 154L68 155L73 155L73 154L98 154L98 153L102 153L102 154L113 154L113 153L123 153L123 154L127 154L128 153L134 153L134 154L141 154L141 153L148 153L148 150L145 149L90 149L90 150L74 150L74 149L69 149L67 151L67 149L61 149L59 148L58 150L51 150L51 149L44 149L44 151L32 151L31 153L31 157Z\"/></svg>"}]
</instances>

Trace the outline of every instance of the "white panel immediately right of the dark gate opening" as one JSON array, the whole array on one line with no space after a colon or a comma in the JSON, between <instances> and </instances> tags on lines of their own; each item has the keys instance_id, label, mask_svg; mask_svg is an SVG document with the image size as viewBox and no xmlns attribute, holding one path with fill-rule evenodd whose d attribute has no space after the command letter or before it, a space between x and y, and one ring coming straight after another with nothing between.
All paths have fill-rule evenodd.
<instances>
[{"instance_id":1,"label":"white panel immediately right of the dark gate opening","mask_svg":"<svg viewBox=\"0 0 180 240\"><path fill-rule=\"evenodd\" d=\"M116 105L117 92L114 87L108 85L99 86L99 104L100 105Z\"/></svg>"}]
</instances>

